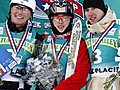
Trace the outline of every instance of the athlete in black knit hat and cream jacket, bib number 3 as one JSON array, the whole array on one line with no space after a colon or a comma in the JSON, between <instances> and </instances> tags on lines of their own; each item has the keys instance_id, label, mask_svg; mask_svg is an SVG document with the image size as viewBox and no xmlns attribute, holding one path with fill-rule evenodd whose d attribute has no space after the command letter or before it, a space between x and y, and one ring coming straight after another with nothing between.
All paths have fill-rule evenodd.
<instances>
[{"instance_id":1,"label":"athlete in black knit hat and cream jacket, bib number 3","mask_svg":"<svg viewBox=\"0 0 120 90\"><path fill-rule=\"evenodd\" d=\"M118 57L120 39L116 15L104 0L84 0L83 8L88 29L83 35L91 62L87 90L119 90L120 79L115 79L119 70L115 57Z\"/></svg>"}]
</instances>

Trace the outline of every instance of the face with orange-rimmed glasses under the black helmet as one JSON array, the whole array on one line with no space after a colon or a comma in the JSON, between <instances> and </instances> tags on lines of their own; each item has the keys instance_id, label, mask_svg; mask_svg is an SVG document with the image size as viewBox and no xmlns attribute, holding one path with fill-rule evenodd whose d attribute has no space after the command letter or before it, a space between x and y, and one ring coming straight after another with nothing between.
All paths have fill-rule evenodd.
<instances>
[{"instance_id":1,"label":"face with orange-rimmed glasses under the black helmet","mask_svg":"<svg viewBox=\"0 0 120 90\"><path fill-rule=\"evenodd\" d=\"M54 26L60 33L64 32L64 30L70 24L70 18L70 16L65 14L54 15L51 17Z\"/></svg>"}]
</instances>

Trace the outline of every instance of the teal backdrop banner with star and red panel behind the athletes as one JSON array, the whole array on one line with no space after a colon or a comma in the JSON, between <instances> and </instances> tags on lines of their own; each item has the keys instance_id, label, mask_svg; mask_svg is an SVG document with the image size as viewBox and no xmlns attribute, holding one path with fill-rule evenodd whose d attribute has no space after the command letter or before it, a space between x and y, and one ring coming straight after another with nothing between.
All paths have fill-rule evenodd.
<instances>
[{"instance_id":1,"label":"teal backdrop banner with star and red panel behind the athletes","mask_svg":"<svg viewBox=\"0 0 120 90\"><path fill-rule=\"evenodd\" d=\"M82 27L83 27L83 33L86 30L86 18L84 15L84 10L83 10L83 0L68 0L70 3L72 3L75 14L74 14L74 20L73 24L76 22L76 20L79 18L82 21ZM109 7L115 11L117 15L117 23L120 24L120 11L118 9L120 0L104 0L105 4L109 5ZM10 0L0 0L0 22L4 22L7 17L9 16L9 2ZM45 32L51 33L51 25L48 19L48 8L54 0L36 0L37 6L36 10L34 13L34 28L39 34L43 34Z\"/></svg>"}]
</instances>

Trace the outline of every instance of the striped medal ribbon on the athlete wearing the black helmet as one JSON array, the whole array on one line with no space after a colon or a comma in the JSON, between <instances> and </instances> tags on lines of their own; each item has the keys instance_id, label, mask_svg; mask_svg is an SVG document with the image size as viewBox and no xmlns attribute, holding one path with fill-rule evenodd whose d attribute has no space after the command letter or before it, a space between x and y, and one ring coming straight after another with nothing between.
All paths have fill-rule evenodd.
<instances>
[{"instance_id":1,"label":"striped medal ribbon on the athlete wearing the black helmet","mask_svg":"<svg viewBox=\"0 0 120 90\"><path fill-rule=\"evenodd\" d=\"M65 41L65 43L64 43L64 44L62 45L62 47L60 48L60 51L58 52L58 55L56 55L55 37L54 37L54 34L52 34L53 54L54 54L55 59L56 59L57 61L60 60L60 58L61 58L61 56L62 56L62 54L63 54L63 52L64 52L64 50L65 50L65 48L66 48L66 46L67 46L67 44L69 43L69 40L70 40L70 39L67 39L67 40Z\"/></svg>"}]
</instances>

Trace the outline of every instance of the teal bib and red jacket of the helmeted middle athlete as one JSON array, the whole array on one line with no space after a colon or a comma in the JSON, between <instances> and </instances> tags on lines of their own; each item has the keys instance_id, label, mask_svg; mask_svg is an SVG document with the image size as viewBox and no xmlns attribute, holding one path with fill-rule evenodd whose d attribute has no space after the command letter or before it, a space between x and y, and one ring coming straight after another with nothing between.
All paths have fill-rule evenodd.
<instances>
[{"instance_id":1,"label":"teal bib and red jacket of the helmeted middle athlete","mask_svg":"<svg viewBox=\"0 0 120 90\"><path fill-rule=\"evenodd\" d=\"M63 37L64 35L61 36ZM52 38L54 38L54 44L56 48L53 48L54 44L52 43ZM46 38L43 40L43 50L45 50L44 53L46 53L47 56L50 56L50 53L53 55L53 52L56 50L56 54L59 56L62 50L62 46L69 39L70 36L61 39L60 37L53 37L53 35L47 35ZM69 46L70 43L68 42L62 54L60 55L61 57L58 60L63 68L64 76L66 74ZM90 68L88 62L89 58L86 55L86 51L87 49L85 42L83 39L81 39L76 62L77 65L75 67L74 74L68 77L66 80L64 77L63 81L60 82L60 84L55 88L55 90L80 90L86 84L85 78L87 77L87 72L89 72ZM84 59L80 56L84 57Z\"/></svg>"}]
</instances>

